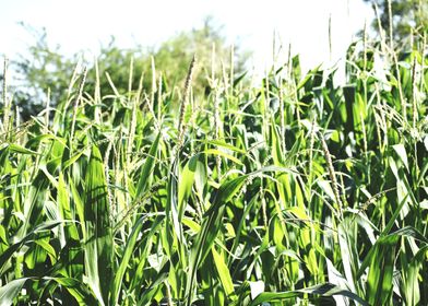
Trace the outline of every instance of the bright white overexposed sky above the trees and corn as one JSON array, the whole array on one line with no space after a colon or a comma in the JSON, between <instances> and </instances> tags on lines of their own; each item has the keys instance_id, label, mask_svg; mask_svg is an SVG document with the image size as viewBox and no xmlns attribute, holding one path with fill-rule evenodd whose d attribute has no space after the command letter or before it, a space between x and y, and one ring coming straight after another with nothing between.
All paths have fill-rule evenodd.
<instances>
[{"instance_id":1,"label":"bright white overexposed sky above the trees and corn","mask_svg":"<svg viewBox=\"0 0 428 306\"><path fill-rule=\"evenodd\" d=\"M329 63L330 15L336 61L372 11L362 0L0 0L0 54L14 58L34 43L21 21L46 27L48 42L64 54L96 54L111 35L120 47L153 46L200 27L207 15L224 25L229 43L253 51L258 71L272 61L274 31L285 48L290 43L293 54L301 55L307 70Z\"/></svg>"}]
</instances>

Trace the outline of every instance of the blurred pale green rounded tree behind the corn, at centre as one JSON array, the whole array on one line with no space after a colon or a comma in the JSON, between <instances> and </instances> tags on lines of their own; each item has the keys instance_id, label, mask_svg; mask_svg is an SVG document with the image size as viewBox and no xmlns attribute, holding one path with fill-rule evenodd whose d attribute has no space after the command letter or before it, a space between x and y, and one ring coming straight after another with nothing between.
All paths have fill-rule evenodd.
<instances>
[{"instance_id":1,"label":"blurred pale green rounded tree behind the corn, at centre","mask_svg":"<svg viewBox=\"0 0 428 306\"><path fill-rule=\"evenodd\" d=\"M115 85L121 91L128 90L129 68L131 58L133 59L133 84L139 83L139 79L144 73L143 84L145 89L152 86L152 66L157 73L163 76L163 81L168 85L181 85L188 72L188 67L193 55L198 58L198 67L193 82L194 90L206 92L210 89L207 78L211 76L212 51L215 46L216 76L222 74L222 66L225 70L230 69L230 48L226 38L222 35L222 27L216 27L211 17L205 19L201 28L190 32L181 32L170 39L160 44L159 47L136 46L132 49L121 49L115 46L112 39L107 47L102 48L98 58L100 74L108 72ZM235 47L234 69L236 74L243 73L248 51L240 51ZM153 62L152 62L153 58ZM94 71L94 70L93 70ZM111 93L106 78L100 84L104 93ZM110 91L110 92L109 92Z\"/></svg>"}]
</instances>

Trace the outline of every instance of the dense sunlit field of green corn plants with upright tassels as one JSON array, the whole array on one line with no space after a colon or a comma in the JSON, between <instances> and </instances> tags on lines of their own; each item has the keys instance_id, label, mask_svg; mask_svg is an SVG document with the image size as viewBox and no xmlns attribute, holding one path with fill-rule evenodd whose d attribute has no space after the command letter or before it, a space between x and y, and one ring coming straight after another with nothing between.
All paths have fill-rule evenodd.
<instances>
[{"instance_id":1,"label":"dense sunlit field of green corn plants with upright tassels","mask_svg":"<svg viewBox=\"0 0 428 306\"><path fill-rule=\"evenodd\" d=\"M214 58L206 92L190 58L108 93L78 67L25 122L4 69L0 304L427 305L424 42L364 37L346 85L298 57L261 85Z\"/></svg>"}]
</instances>

